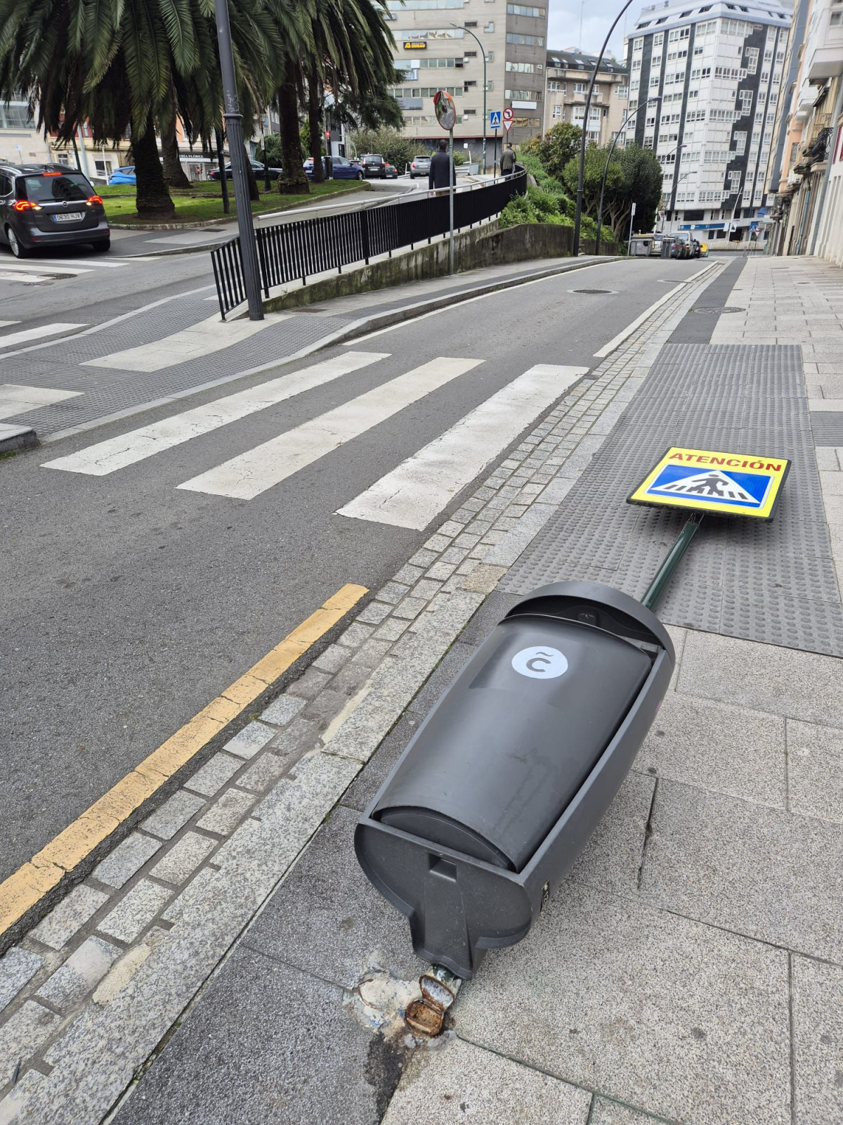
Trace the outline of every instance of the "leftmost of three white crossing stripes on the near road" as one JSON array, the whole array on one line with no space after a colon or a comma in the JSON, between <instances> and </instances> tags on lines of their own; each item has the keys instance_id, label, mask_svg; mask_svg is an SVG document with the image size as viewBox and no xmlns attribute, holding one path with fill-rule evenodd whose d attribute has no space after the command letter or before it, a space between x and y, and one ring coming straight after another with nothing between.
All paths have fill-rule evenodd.
<instances>
[{"instance_id":1,"label":"leftmost of three white crossing stripes on the near road","mask_svg":"<svg viewBox=\"0 0 843 1125\"><path fill-rule=\"evenodd\" d=\"M250 387L248 390L238 390L235 395L216 398L211 403L205 403L202 406L193 407L193 410L174 414L172 417L154 422L152 425L132 430L118 438L100 441L78 453L69 453L54 461L46 461L42 468L64 469L67 472L85 472L91 477L105 477L127 465L134 465L146 457L154 457L155 453L165 449L172 449L173 446L190 441L191 438L210 433L219 426L228 425L229 422L236 422L256 411L292 398L293 395L312 390L314 387L320 387L323 384L338 379L351 371L357 371L378 360L387 359L388 356L388 352L345 352L333 359L324 360L321 363L315 363L312 367L291 371L278 379Z\"/></svg>"}]
</instances>

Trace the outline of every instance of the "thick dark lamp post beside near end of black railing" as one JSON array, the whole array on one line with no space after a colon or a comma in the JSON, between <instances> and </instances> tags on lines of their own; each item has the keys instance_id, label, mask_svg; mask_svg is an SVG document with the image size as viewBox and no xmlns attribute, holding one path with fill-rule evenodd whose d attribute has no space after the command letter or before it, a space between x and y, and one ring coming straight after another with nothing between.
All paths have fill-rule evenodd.
<instances>
[{"instance_id":1,"label":"thick dark lamp post beside near end of black railing","mask_svg":"<svg viewBox=\"0 0 843 1125\"><path fill-rule=\"evenodd\" d=\"M228 21L228 0L214 0L219 43L219 65L223 72L223 118L228 134L228 152L232 158L234 198L237 205L237 231L243 261L243 281L246 288L250 321L263 320L261 300L261 271L257 266L257 245L252 225L252 206L248 199L246 178L246 148L243 141L243 115L237 102L237 83L234 76L234 51L232 48L232 26Z\"/></svg>"}]
</instances>

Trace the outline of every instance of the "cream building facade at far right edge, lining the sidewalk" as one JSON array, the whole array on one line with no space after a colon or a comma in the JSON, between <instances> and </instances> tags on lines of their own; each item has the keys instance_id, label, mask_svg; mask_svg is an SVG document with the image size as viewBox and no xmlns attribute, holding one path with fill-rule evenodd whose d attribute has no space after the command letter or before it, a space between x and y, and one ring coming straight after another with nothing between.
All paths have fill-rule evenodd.
<instances>
[{"instance_id":1,"label":"cream building facade at far right edge, lining the sidewalk","mask_svg":"<svg viewBox=\"0 0 843 1125\"><path fill-rule=\"evenodd\" d=\"M843 0L799 0L776 123L771 246L843 266Z\"/></svg>"}]
</instances>

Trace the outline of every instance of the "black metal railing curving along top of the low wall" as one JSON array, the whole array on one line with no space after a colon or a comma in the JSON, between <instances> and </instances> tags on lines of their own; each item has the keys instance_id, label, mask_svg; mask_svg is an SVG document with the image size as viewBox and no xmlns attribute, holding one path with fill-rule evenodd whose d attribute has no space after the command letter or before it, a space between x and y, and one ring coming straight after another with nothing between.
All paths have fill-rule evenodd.
<instances>
[{"instance_id":1,"label":"black metal railing curving along top of the low wall","mask_svg":"<svg viewBox=\"0 0 843 1125\"><path fill-rule=\"evenodd\" d=\"M517 171L493 183L461 188L454 192L454 231L472 227L504 210L509 200L527 190L527 173ZM338 215L323 215L293 223L278 223L255 231L261 288L290 281L307 284L309 277L344 266L369 264L380 254L430 243L451 230L447 192L420 196L396 204L360 208ZM246 299L239 238L211 251L223 320Z\"/></svg>"}]
</instances>

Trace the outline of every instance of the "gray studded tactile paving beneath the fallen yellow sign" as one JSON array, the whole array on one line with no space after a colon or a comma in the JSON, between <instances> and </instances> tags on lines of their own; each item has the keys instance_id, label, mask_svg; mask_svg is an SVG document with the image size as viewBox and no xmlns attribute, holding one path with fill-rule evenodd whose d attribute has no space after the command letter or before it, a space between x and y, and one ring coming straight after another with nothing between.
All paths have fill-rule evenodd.
<instances>
[{"instance_id":1,"label":"gray studded tactile paving beneath the fallen yellow sign","mask_svg":"<svg viewBox=\"0 0 843 1125\"><path fill-rule=\"evenodd\" d=\"M787 405L782 406L782 400ZM626 497L669 446L792 461L770 523L707 516L659 605L670 624L843 656L843 606L798 346L668 343L644 386L501 591L586 578L641 597L683 523ZM828 412L824 417L842 417ZM812 432L812 425L814 430Z\"/></svg>"}]
</instances>

